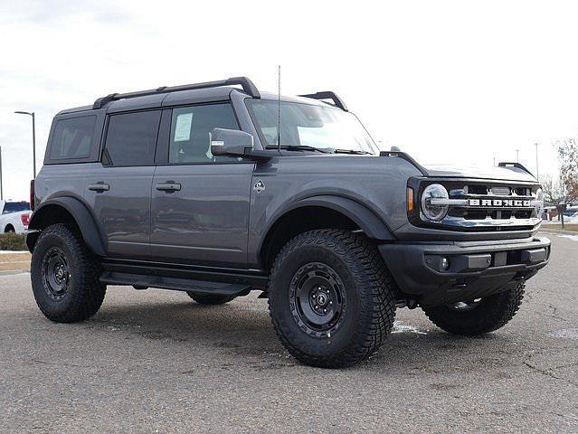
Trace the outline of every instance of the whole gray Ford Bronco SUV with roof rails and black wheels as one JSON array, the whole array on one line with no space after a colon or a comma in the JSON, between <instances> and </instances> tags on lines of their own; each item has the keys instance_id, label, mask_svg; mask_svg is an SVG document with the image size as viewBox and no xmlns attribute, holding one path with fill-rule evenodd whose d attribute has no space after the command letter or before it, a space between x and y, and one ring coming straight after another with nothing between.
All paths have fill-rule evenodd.
<instances>
[{"instance_id":1,"label":"whole gray Ford Bronco SUV with roof rails and black wheels","mask_svg":"<svg viewBox=\"0 0 578 434\"><path fill-rule=\"evenodd\" d=\"M335 93L244 77L61 111L31 190L33 294L52 321L93 316L107 285L204 305L259 290L289 353L322 367L373 354L397 307L496 330L550 255L524 166L424 167L380 152Z\"/></svg>"}]
</instances>

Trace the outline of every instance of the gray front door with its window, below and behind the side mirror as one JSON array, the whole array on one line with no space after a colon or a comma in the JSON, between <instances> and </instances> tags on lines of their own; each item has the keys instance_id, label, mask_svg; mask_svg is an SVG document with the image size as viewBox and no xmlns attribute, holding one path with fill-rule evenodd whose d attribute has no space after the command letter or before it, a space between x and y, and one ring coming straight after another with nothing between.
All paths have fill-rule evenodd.
<instances>
[{"instance_id":1,"label":"gray front door with its window, below and behind the side mirror","mask_svg":"<svg viewBox=\"0 0 578 434\"><path fill-rule=\"evenodd\" d=\"M156 260L246 266L254 164L213 156L214 127L239 129L231 104L172 110L166 161L157 165L152 184L150 246Z\"/></svg>"}]
</instances>

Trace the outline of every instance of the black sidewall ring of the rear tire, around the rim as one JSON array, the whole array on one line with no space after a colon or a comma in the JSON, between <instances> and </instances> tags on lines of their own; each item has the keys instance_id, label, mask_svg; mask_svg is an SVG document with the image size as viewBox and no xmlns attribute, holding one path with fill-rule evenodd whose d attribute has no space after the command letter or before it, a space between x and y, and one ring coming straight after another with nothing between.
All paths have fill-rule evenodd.
<instances>
[{"instance_id":1,"label":"black sidewall ring of the rear tire, around the rim","mask_svg":"<svg viewBox=\"0 0 578 434\"><path fill-rule=\"evenodd\" d=\"M51 231L41 237L34 246L31 262L33 295L39 307L43 311L50 313L51 316L65 315L71 309L79 291L79 278L81 278L82 270L80 261L72 253L72 242L74 241L67 240L60 233ZM47 251L52 247L58 247L62 250L71 272L69 287L61 300L53 300L44 287L43 259Z\"/></svg>"}]
</instances>

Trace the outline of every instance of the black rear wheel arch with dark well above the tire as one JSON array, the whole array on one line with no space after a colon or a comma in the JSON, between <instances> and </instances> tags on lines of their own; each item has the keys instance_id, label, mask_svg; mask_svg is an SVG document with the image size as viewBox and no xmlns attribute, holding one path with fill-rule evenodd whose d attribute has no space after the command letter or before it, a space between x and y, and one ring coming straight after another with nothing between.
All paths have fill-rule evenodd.
<instances>
[{"instance_id":1,"label":"black rear wheel arch with dark well above the tire","mask_svg":"<svg viewBox=\"0 0 578 434\"><path fill-rule=\"evenodd\" d=\"M89 208L71 196L49 199L34 210L26 235L28 250L33 251L40 231L54 223L76 224L89 250L97 256L105 256L105 243Z\"/></svg>"}]
</instances>

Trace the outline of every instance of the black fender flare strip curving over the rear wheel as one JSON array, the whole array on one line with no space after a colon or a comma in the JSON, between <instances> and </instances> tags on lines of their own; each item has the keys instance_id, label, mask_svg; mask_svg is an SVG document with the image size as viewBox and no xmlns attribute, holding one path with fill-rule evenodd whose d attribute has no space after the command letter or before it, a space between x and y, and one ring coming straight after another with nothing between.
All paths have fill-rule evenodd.
<instances>
[{"instance_id":1,"label":"black fender flare strip curving over the rear wheel","mask_svg":"<svg viewBox=\"0 0 578 434\"><path fill-rule=\"evenodd\" d=\"M69 212L81 230L82 239L92 253L98 256L106 256L104 243L100 237L100 231L94 217L84 203L71 196L60 196L49 199L40 204L33 212L28 224L28 234L26 235L26 245L32 251L34 243L38 238L39 231L42 230L42 223L52 206L62 207Z\"/></svg>"}]
</instances>

